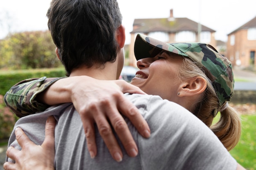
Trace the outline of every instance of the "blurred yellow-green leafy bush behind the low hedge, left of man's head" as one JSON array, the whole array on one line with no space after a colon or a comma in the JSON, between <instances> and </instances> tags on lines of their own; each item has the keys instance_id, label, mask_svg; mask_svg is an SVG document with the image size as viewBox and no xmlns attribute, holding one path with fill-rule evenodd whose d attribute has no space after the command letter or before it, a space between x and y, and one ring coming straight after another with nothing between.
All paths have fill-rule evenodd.
<instances>
[{"instance_id":1,"label":"blurred yellow-green leafy bush behind the low hedge, left of man's head","mask_svg":"<svg viewBox=\"0 0 256 170\"><path fill-rule=\"evenodd\" d=\"M49 31L14 33L0 42L0 68L53 68L61 66ZM3 63L4 62L4 63Z\"/></svg>"}]
</instances>

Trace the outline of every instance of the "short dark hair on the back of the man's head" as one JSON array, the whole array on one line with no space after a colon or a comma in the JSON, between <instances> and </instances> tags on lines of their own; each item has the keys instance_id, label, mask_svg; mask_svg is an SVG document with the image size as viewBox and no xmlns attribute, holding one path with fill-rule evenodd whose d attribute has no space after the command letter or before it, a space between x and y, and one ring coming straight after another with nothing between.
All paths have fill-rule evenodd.
<instances>
[{"instance_id":1,"label":"short dark hair on the back of the man's head","mask_svg":"<svg viewBox=\"0 0 256 170\"><path fill-rule=\"evenodd\" d=\"M82 65L115 62L122 21L117 0L52 0L47 17L67 76Z\"/></svg>"}]
</instances>

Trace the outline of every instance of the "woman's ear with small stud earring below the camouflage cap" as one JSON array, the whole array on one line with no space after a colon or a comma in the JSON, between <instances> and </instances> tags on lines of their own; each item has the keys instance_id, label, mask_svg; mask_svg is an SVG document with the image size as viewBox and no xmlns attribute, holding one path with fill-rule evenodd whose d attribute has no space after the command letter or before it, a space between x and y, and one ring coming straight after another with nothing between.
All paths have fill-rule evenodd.
<instances>
[{"instance_id":1,"label":"woman's ear with small stud earring below the camouflage cap","mask_svg":"<svg viewBox=\"0 0 256 170\"><path fill-rule=\"evenodd\" d=\"M197 76L184 82L179 89L179 97L194 96L203 93L207 87L207 81L203 77Z\"/></svg>"}]
</instances>

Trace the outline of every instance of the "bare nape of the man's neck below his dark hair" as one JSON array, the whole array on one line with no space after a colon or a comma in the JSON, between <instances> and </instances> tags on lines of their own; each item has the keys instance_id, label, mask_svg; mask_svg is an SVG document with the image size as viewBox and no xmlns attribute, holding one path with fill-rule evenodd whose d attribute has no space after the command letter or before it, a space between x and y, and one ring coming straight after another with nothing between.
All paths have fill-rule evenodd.
<instances>
[{"instance_id":1,"label":"bare nape of the man's neck below his dark hair","mask_svg":"<svg viewBox=\"0 0 256 170\"><path fill-rule=\"evenodd\" d=\"M114 63L106 63L105 66L81 66L72 70L70 77L87 75L95 79L114 80L117 77L117 68Z\"/></svg>"}]
</instances>

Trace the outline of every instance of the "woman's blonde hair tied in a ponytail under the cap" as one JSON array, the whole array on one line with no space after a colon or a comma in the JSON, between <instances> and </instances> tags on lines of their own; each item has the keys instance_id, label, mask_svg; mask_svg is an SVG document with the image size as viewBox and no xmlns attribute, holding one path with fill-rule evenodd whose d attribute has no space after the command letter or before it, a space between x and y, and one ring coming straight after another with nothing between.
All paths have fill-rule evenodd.
<instances>
[{"instance_id":1,"label":"woman's blonde hair tied in a ponytail under the cap","mask_svg":"<svg viewBox=\"0 0 256 170\"><path fill-rule=\"evenodd\" d=\"M189 110L214 132L227 150L231 150L240 139L240 115L234 108L228 106L220 112L220 120L212 125L213 118L217 115L220 108L226 105L226 102L220 106L211 80L192 60L184 58L178 77L181 80L186 80L196 76L201 76L207 80L207 88L198 102L193 105L193 108L189 108Z\"/></svg>"}]
</instances>

